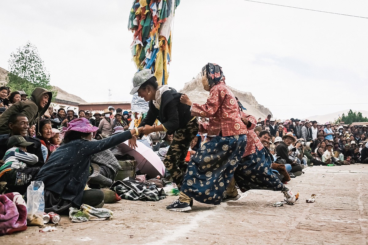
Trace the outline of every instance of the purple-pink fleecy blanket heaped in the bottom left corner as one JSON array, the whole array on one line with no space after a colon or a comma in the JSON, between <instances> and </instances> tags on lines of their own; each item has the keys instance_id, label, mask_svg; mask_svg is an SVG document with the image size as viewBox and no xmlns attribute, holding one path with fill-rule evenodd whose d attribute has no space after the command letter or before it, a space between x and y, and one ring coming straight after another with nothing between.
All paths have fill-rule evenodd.
<instances>
[{"instance_id":1,"label":"purple-pink fleecy blanket heaped in the bottom left corner","mask_svg":"<svg viewBox=\"0 0 368 245\"><path fill-rule=\"evenodd\" d=\"M0 236L27 228L27 207L18 192L0 195Z\"/></svg>"}]
</instances>

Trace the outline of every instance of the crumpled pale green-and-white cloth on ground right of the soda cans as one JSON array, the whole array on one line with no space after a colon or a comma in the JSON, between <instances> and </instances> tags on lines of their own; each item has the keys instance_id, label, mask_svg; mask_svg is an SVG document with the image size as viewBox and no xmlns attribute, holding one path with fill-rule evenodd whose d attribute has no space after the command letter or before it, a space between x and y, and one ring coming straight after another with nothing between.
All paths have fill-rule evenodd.
<instances>
[{"instance_id":1,"label":"crumpled pale green-and-white cloth on ground right of the soda cans","mask_svg":"<svg viewBox=\"0 0 368 245\"><path fill-rule=\"evenodd\" d=\"M113 218L113 214L113 211L107 208L93 208L86 204L82 204L81 209L73 208L69 211L69 217L72 222L111 220Z\"/></svg>"}]
</instances>

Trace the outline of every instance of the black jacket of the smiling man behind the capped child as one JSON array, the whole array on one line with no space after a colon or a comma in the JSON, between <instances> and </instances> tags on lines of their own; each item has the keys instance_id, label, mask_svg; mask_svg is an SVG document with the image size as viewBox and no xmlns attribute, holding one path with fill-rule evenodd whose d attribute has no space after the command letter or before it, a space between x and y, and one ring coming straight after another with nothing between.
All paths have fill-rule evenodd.
<instances>
[{"instance_id":1,"label":"black jacket of the smiling man behind the capped child","mask_svg":"<svg viewBox=\"0 0 368 245\"><path fill-rule=\"evenodd\" d=\"M8 147L6 146L6 141L10 137L10 134L3 134L0 135L0 160L3 159L6 151L8 150ZM41 150L41 141L38 138L33 138L26 136L24 137L26 141L35 143L34 145L27 146L27 152L34 154L38 157L38 162L35 165L32 165L32 167L42 167L45 162L43 161L43 155Z\"/></svg>"}]
</instances>

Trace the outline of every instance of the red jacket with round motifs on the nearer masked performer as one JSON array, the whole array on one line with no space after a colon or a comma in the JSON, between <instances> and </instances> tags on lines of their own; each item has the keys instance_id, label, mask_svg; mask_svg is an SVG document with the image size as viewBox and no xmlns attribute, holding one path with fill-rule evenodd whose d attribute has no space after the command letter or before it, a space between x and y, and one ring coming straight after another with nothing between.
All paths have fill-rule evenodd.
<instances>
[{"instance_id":1,"label":"red jacket with round motifs on the nearer masked performer","mask_svg":"<svg viewBox=\"0 0 368 245\"><path fill-rule=\"evenodd\" d=\"M209 118L208 136L247 134L247 126L240 118L240 109L233 92L222 81L211 88L205 104L193 103L192 116Z\"/></svg>"}]
</instances>

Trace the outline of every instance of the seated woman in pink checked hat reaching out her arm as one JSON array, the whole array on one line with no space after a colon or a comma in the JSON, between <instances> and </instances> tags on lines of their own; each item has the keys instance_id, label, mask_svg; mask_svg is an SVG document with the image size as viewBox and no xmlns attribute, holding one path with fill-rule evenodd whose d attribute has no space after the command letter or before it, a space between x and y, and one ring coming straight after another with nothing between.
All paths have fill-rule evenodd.
<instances>
[{"instance_id":1,"label":"seated woman in pink checked hat reaching out her arm","mask_svg":"<svg viewBox=\"0 0 368 245\"><path fill-rule=\"evenodd\" d=\"M91 126L86 118L74 119L63 127L66 144L61 145L42 166L35 180L45 184L45 212L68 212L83 203L101 208L104 194L101 190L84 190L90 172L90 157L138 135L142 128L134 128L103 140L92 141L98 127ZM131 142L135 148L135 141Z\"/></svg>"}]
</instances>

